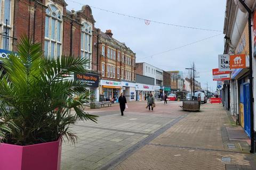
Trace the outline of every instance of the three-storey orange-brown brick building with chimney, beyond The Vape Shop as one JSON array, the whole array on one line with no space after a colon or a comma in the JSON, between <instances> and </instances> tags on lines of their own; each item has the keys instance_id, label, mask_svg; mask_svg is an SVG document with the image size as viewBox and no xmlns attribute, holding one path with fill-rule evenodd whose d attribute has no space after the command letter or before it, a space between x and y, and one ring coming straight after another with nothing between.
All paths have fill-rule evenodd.
<instances>
[{"instance_id":1,"label":"three-storey orange-brown brick building with chimney, beyond The Vape Shop","mask_svg":"<svg viewBox=\"0 0 256 170\"><path fill-rule=\"evenodd\" d=\"M135 101L135 53L113 38L111 30L98 32L100 52L100 94L114 100L124 92L128 101Z\"/></svg>"}]
</instances>

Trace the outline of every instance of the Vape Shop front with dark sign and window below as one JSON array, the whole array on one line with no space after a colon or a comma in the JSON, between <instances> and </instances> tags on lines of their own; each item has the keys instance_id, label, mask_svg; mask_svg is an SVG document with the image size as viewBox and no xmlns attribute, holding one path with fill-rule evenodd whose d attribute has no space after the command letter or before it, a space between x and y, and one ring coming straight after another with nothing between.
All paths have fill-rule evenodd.
<instances>
[{"instance_id":1,"label":"Vape Shop front with dark sign and window below","mask_svg":"<svg viewBox=\"0 0 256 170\"><path fill-rule=\"evenodd\" d=\"M90 99L92 101L99 101L99 75L93 73L75 74L75 80L85 81L87 89L90 91Z\"/></svg>"}]
</instances>

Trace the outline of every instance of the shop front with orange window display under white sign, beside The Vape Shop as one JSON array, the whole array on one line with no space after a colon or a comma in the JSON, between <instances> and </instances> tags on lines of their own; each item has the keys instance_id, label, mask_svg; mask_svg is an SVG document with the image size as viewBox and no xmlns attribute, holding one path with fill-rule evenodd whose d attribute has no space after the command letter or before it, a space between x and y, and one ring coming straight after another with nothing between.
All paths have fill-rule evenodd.
<instances>
[{"instance_id":1,"label":"shop front with orange window display under white sign, beside The Vape Shop","mask_svg":"<svg viewBox=\"0 0 256 170\"><path fill-rule=\"evenodd\" d=\"M118 102L118 97L122 92L120 81L100 80L100 94L104 96L104 101Z\"/></svg>"}]
</instances>

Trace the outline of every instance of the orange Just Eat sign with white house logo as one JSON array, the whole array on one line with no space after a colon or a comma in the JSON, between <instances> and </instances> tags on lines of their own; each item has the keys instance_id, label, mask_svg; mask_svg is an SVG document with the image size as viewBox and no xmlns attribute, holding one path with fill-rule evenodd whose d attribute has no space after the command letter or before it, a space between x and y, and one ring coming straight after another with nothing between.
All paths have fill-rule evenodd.
<instances>
[{"instance_id":1,"label":"orange Just Eat sign with white house logo","mask_svg":"<svg viewBox=\"0 0 256 170\"><path fill-rule=\"evenodd\" d=\"M230 55L230 69L246 68L245 54Z\"/></svg>"}]
</instances>

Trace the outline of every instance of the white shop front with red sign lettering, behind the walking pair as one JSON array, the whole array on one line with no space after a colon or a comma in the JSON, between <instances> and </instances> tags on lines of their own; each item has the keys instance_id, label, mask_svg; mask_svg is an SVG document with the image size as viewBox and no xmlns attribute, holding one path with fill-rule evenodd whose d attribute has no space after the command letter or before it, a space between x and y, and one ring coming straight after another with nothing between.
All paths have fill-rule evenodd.
<instances>
[{"instance_id":1,"label":"white shop front with red sign lettering, behind the walking pair","mask_svg":"<svg viewBox=\"0 0 256 170\"><path fill-rule=\"evenodd\" d=\"M141 84L141 83L135 84L135 90L136 90L137 101L147 100L147 95L152 94L154 96L154 92L155 92L153 85Z\"/></svg>"}]
</instances>

